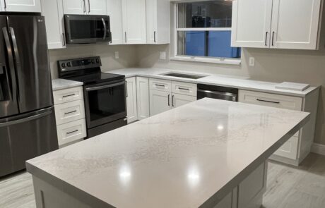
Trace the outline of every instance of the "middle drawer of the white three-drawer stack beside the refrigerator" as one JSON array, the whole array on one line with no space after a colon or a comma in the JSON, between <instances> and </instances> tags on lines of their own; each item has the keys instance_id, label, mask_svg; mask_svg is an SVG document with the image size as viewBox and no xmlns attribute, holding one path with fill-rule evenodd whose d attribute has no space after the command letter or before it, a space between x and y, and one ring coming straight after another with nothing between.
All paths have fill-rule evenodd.
<instances>
[{"instance_id":1,"label":"middle drawer of the white three-drawer stack beside the refrigerator","mask_svg":"<svg viewBox=\"0 0 325 208\"><path fill-rule=\"evenodd\" d=\"M57 125L85 118L83 100L76 100L54 106Z\"/></svg>"}]
</instances>

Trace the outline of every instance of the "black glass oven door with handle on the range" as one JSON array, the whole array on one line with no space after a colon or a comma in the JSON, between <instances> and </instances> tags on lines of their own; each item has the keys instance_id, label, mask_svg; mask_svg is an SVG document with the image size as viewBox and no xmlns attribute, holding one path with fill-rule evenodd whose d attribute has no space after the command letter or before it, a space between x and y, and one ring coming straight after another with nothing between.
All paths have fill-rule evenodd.
<instances>
[{"instance_id":1,"label":"black glass oven door with handle on the range","mask_svg":"<svg viewBox=\"0 0 325 208\"><path fill-rule=\"evenodd\" d=\"M126 117L125 80L84 87L85 114L88 128Z\"/></svg>"}]
</instances>

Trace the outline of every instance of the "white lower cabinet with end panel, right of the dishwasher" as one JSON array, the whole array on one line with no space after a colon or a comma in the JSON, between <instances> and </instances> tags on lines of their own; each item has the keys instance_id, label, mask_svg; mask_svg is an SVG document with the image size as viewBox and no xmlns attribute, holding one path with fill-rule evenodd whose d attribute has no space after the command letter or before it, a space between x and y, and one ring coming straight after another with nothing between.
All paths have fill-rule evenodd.
<instances>
[{"instance_id":1,"label":"white lower cabinet with end panel, right of the dishwasher","mask_svg":"<svg viewBox=\"0 0 325 208\"><path fill-rule=\"evenodd\" d=\"M274 152L271 159L297 166L307 157L314 141L318 92L318 90L315 90L315 92L307 94L305 98L302 98L248 90L239 91L239 102L295 111L307 111L311 114L310 121Z\"/></svg>"}]
</instances>

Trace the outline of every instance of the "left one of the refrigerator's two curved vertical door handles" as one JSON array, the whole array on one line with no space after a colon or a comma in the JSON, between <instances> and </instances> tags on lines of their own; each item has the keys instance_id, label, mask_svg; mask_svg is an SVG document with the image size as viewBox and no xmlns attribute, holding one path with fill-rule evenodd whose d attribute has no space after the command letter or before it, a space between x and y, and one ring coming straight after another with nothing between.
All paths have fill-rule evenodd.
<instances>
[{"instance_id":1,"label":"left one of the refrigerator's two curved vertical door handles","mask_svg":"<svg viewBox=\"0 0 325 208\"><path fill-rule=\"evenodd\" d=\"M17 97L17 83L16 83L16 72L15 65L13 63L13 53L11 49L11 44L9 40L9 35L6 27L2 28L2 32L4 33L4 42L6 43L6 49L8 53L8 62L10 68L10 77L11 77L11 99L16 99Z\"/></svg>"}]
</instances>

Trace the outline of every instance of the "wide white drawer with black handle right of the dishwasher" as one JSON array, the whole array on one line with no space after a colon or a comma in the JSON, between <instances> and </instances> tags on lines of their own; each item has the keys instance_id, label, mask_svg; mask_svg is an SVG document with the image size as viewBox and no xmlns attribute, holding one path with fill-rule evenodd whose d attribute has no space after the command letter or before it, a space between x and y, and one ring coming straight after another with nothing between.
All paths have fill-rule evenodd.
<instances>
[{"instance_id":1,"label":"wide white drawer with black handle right of the dishwasher","mask_svg":"<svg viewBox=\"0 0 325 208\"><path fill-rule=\"evenodd\" d=\"M302 98L247 90L239 91L239 102L302 111Z\"/></svg>"}]
</instances>

